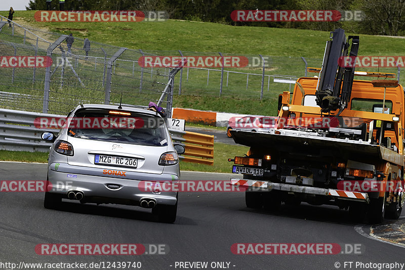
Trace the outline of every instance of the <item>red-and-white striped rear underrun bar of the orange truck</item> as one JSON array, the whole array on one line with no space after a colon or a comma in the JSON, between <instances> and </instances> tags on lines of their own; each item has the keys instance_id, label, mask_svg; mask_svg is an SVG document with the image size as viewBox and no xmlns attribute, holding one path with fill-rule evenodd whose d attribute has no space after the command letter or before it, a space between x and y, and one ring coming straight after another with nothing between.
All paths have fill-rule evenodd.
<instances>
[{"instance_id":1,"label":"red-and-white striped rear underrun bar of the orange truck","mask_svg":"<svg viewBox=\"0 0 405 270\"><path fill-rule=\"evenodd\" d=\"M370 201L369 195L367 193L363 193L363 192L343 191L343 190L335 190L335 189L322 189L322 188L305 187L305 186L280 184L280 183L247 180L247 179L237 179L237 178L231 178L230 185L237 186L237 187L243 188L243 189L262 191L262 192L271 191L271 190L279 190L279 191L286 191L286 192L332 196L332 197L338 197L339 199L342 199L342 200L365 201L367 203L369 203L369 201Z\"/></svg>"}]
</instances>

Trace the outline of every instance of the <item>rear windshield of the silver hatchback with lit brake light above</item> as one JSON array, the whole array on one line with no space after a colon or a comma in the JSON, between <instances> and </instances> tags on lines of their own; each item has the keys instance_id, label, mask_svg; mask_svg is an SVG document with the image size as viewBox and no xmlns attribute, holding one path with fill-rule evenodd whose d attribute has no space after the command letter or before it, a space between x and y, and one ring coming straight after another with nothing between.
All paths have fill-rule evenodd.
<instances>
[{"instance_id":1,"label":"rear windshield of the silver hatchback with lit brake light above","mask_svg":"<svg viewBox=\"0 0 405 270\"><path fill-rule=\"evenodd\" d=\"M121 110L82 109L68 118L68 136L146 146L167 146L161 117Z\"/></svg>"}]
</instances>

